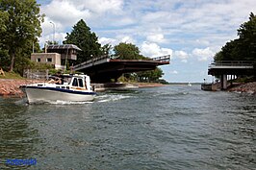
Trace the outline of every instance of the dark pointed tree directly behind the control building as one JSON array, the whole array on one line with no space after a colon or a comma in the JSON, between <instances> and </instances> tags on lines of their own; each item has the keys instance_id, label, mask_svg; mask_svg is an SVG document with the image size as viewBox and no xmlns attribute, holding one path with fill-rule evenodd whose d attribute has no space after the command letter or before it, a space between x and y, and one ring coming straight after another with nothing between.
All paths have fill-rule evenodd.
<instances>
[{"instance_id":1,"label":"dark pointed tree directly behind the control building","mask_svg":"<svg viewBox=\"0 0 256 170\"><path fill-rule=\"evenodd\" d=\"M98 43L98 37L95 33L90 32L90 27L83 19L73 26L70 34L66 33L65 39L64 44L75 44L82 50L77 55L75 63L88 61L91 57L95 58L103 54L100 49L101 45Z\"/></svg>"}]
</instances>

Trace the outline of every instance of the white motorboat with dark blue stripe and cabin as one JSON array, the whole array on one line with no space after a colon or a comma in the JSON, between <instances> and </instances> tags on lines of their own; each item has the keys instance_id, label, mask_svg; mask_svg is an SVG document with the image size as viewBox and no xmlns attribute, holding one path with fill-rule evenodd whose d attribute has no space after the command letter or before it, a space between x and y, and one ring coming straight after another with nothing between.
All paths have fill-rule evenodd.
<instances>
[{"instance_id":1,"label":"white motorboat with dark blue stripe and cabin","mask_svg":"<svg viewBox=\"0 0 256 170\"><path fill-rule=\"evenodd\" d=\"M62 75L59 81L51 80L47 83L20 85L26 93L28 103L47 102L88 102L92 101L95 92L90 85L87 75Z\"/></svg>"}]
</instances>

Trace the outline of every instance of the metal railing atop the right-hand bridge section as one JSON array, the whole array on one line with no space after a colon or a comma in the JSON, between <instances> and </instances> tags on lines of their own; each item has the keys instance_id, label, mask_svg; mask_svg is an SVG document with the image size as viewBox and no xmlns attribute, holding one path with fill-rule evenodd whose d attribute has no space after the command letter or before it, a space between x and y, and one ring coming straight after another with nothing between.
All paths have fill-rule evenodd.
<instances>
[{"instance_id":1,"label":"metal railing atop the right-hand bridge section","mask_svg":"<svg viewBox=\"0 0 256 170\"><path fill-rule=\"evenodd\" d=\"M256 61L212 61L209 68L215 66L253 66Z\"/></svg>"}]
</instances>

